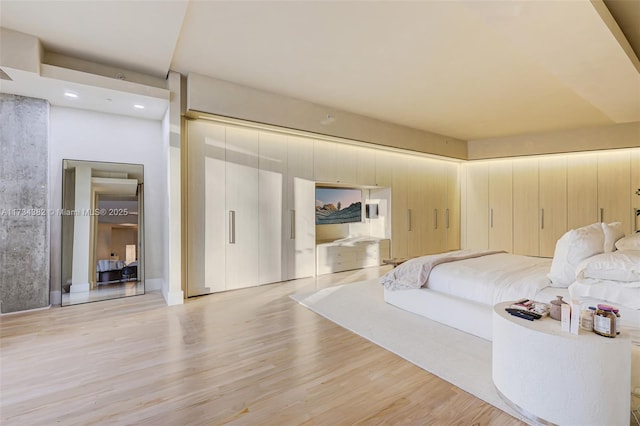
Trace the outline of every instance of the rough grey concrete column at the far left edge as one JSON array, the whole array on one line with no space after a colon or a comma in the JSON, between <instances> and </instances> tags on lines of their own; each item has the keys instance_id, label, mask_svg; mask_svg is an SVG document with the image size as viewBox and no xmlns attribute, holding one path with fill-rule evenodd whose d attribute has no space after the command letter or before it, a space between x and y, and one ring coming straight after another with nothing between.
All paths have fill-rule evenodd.
<instances>
[{"instance_id":1,"label":"rough grey concrete column at the far left edge","mask_svg":"<svg viewBox=\"0 0 640 426\"><path fill-rule=\"evenodd\" d=\"M49 103L0 94L0 312L49 305Z\"/></svg>"}]
</instances>

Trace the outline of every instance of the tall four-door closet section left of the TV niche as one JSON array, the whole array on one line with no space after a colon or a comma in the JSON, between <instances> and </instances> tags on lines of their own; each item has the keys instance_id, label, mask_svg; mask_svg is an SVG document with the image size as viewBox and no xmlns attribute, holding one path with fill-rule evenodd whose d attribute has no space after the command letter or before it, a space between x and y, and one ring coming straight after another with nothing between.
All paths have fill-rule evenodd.
<instances>
[{"instance_id":1,"label":"tall four-door closet section left of the TV niche","mask_svg":"<svg viewBox=\"0 0 640 426\"><path fill-rule=\"evenodd\" d=\"M186 124L187 296L315 273L313 141Z\"/></svg>"}]
</instances>

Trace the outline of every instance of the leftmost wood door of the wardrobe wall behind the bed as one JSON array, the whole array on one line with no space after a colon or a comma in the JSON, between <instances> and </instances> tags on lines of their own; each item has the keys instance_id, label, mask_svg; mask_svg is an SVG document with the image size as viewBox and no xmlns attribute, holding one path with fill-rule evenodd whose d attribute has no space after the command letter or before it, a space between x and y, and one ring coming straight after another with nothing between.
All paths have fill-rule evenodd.
<instances>
[{"instance_id":1,"label":"leftmost wood door of the wardrobe wall behind the bed","mask_svg":"<svg viewBox=\"0 0 640 426\"><path fill-rule=\"evenodd\" d=\"M489 164L468 163L466 174L466 248L489 248Z\"/></svg>"}]
</instances>

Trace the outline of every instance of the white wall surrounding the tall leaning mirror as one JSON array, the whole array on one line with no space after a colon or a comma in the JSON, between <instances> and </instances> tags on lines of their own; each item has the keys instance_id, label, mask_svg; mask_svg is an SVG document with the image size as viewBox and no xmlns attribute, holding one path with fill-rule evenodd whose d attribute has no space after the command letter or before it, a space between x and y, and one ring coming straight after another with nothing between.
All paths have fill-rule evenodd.
<instances>
[{"instance_id":1,"label":"white wall surrounding the tall leaning mirror","mask_svg":"<svg viewBox=\"0 0 640 426\"><path fill-rule=\"evenodd\" d=\"M146 289L165 279L167 165L162 123L154 120L51 106L50 208L62 207L62 160L144 165ZM51 216L51 303L60 304L61 217Z\"/></svg>"}]
</instances>

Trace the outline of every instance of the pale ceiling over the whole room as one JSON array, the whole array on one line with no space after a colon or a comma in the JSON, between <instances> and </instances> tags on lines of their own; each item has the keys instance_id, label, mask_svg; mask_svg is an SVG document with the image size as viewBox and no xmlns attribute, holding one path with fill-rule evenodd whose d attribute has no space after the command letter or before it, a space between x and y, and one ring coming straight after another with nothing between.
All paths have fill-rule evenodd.
<instances>
[{"instance_id":1,"label":"pale ceiling over the whole room","mask_svg":"<svg viewBox=\"0 0 640 426\"><path fill-rule=\"evenodd\" d=\"M638 0L2 0L0 26L463 140L640 121Z\"/></svg>"}]
</instances>

